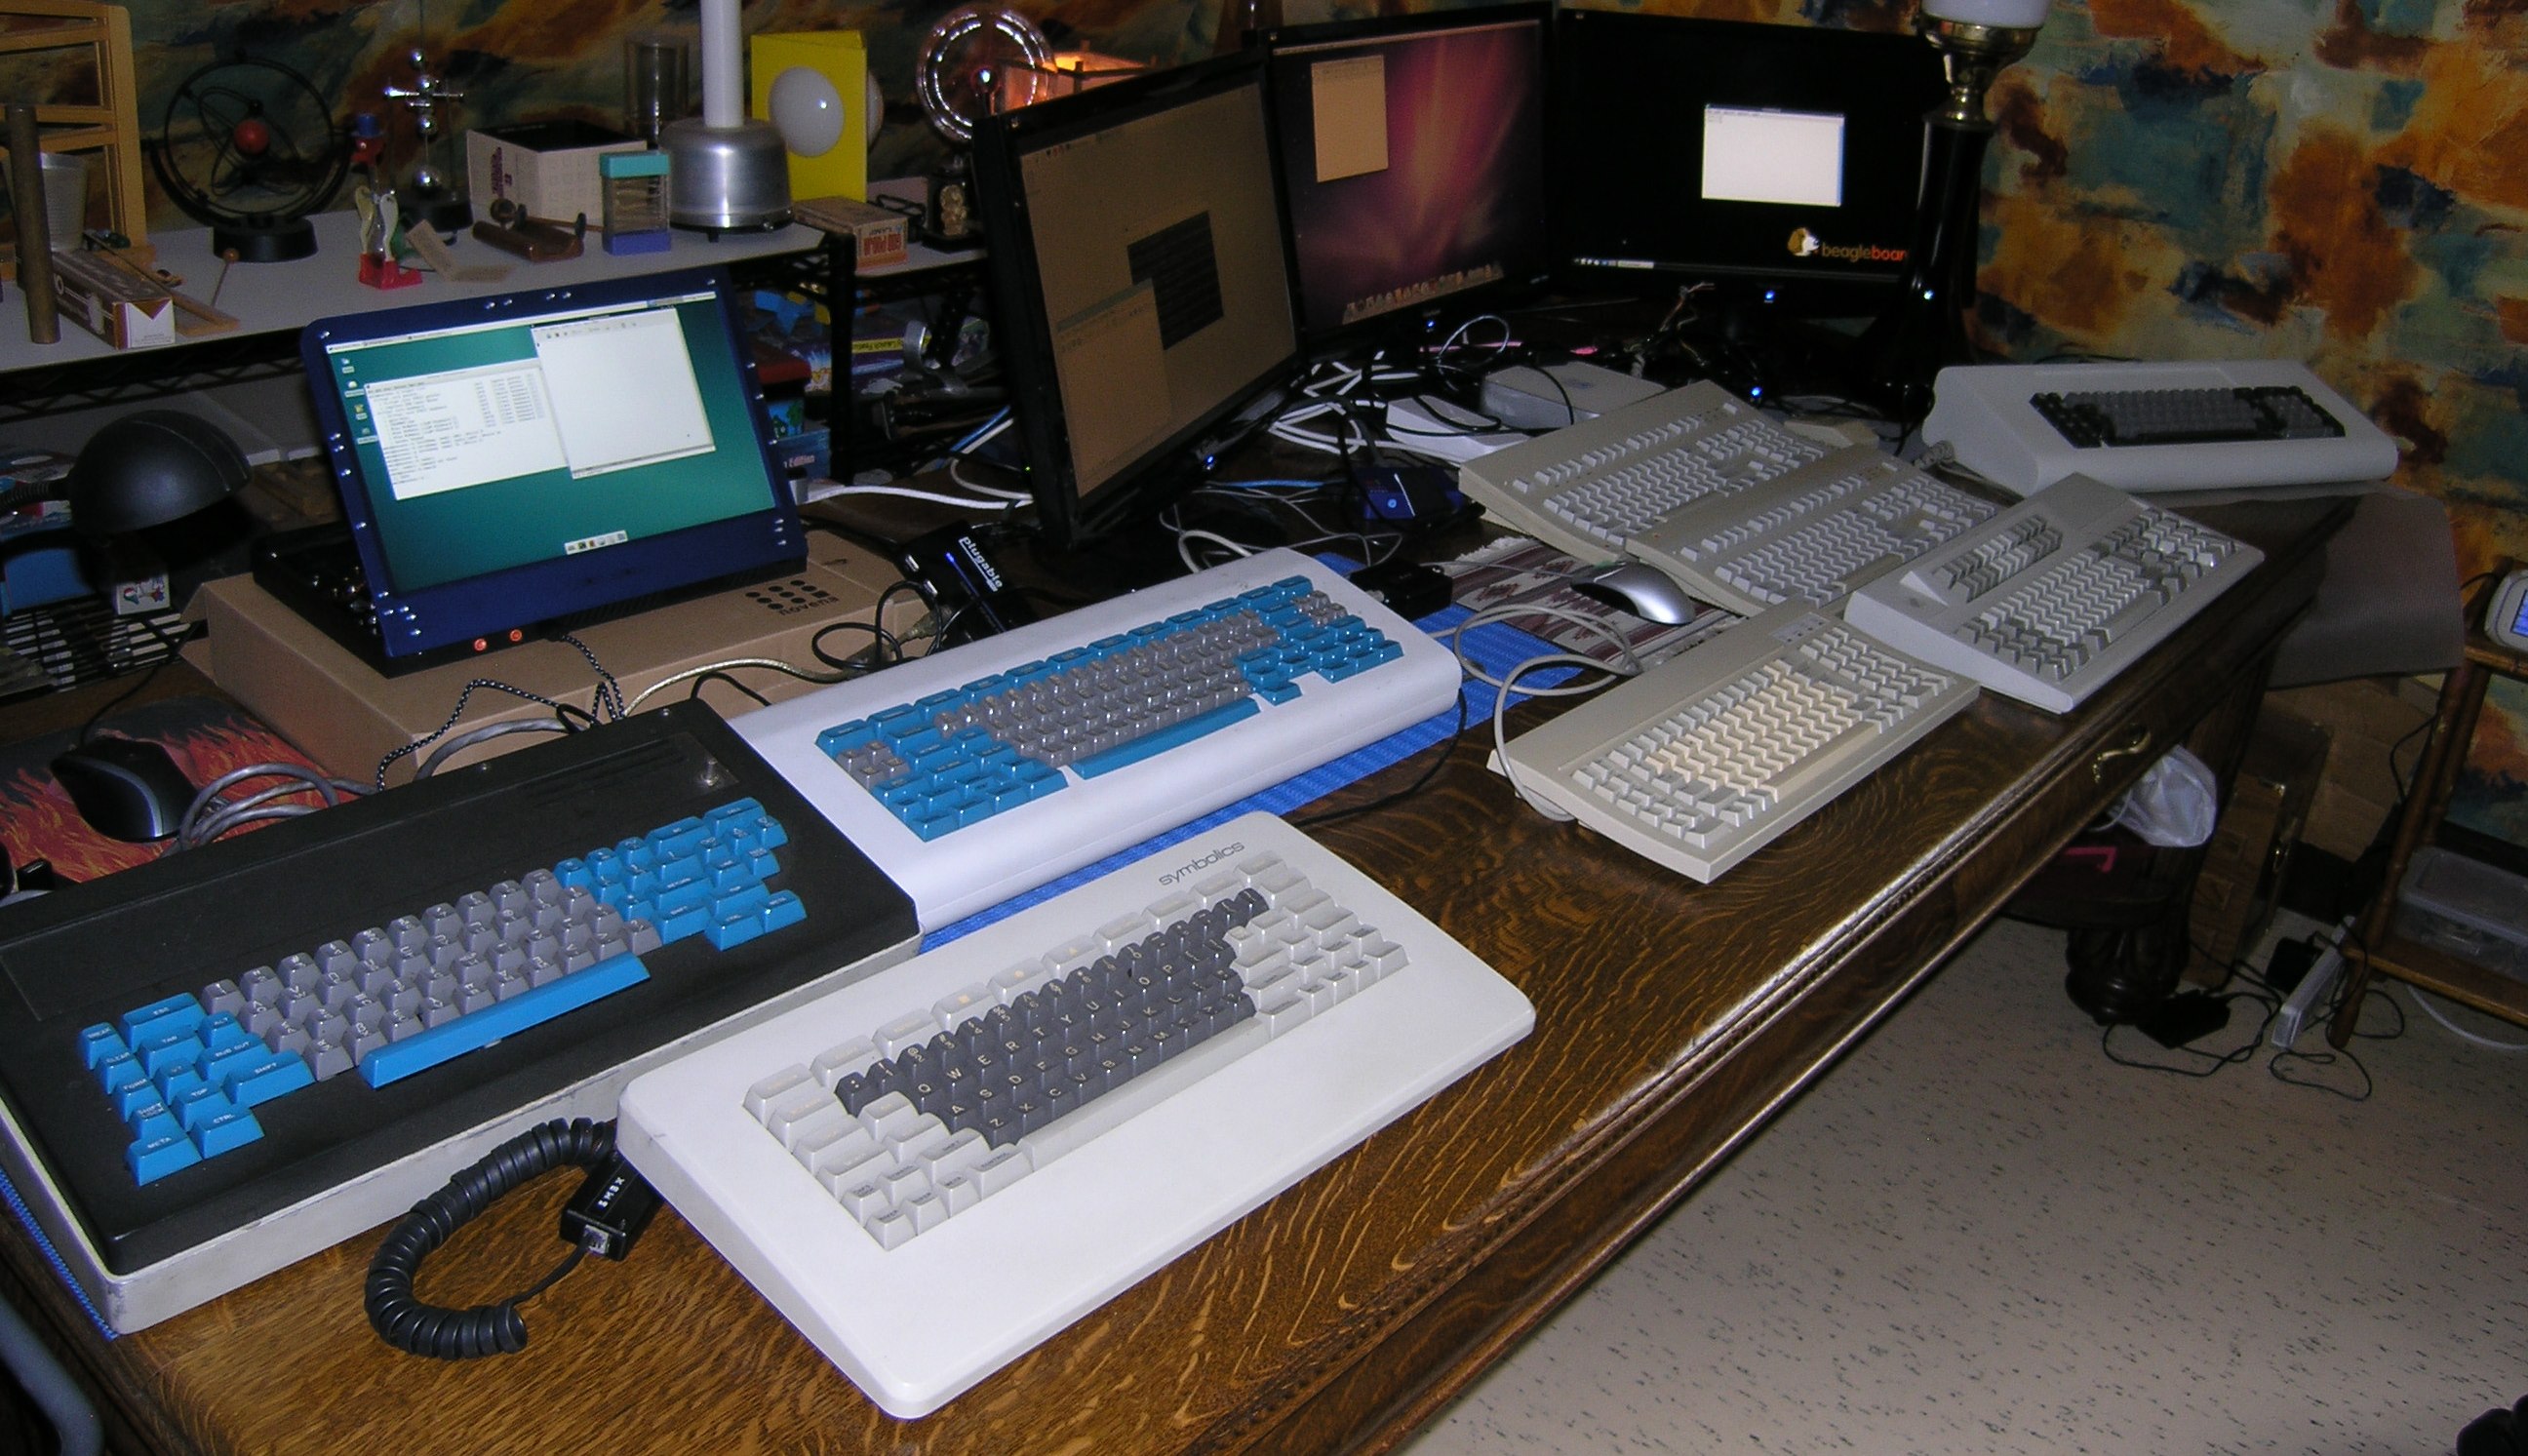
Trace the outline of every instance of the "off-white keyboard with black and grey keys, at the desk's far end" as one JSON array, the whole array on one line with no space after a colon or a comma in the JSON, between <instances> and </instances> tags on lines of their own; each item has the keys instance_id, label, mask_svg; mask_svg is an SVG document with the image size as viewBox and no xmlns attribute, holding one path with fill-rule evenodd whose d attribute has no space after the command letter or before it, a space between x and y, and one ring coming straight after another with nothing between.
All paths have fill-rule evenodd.
<instances>
[{"instance_id":1,"label":"off-white keyboard with black and grey keys, at the desk's far end","mask_svg":"<svg viewBox=\"0 0 2528 1456\"><path fill-rule=\"evenodd\" d=\"M1931 384L1921 437L2020 495L2073 473L2124 490L2397 473L2397 440L2290 359L1962 364Z\"/></svg>"}]
</instances>

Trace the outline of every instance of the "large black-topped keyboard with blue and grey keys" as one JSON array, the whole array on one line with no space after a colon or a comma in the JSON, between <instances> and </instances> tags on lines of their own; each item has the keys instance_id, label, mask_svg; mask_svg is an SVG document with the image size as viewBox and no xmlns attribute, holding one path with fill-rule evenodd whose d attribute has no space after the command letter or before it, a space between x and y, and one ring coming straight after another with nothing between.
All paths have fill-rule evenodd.
<instances>
[{"instance_id":1,"label":"large black-topped keyboard with blue and grey keys","mask_svg":"<svg viewBox=\"0 0 2528 1456\"><path fill-rule=\"evenodd\" d=\"M910 902L678 705L0 918L0 1165L137 1330L905 958Z\"/></svg>"}]
</instances>

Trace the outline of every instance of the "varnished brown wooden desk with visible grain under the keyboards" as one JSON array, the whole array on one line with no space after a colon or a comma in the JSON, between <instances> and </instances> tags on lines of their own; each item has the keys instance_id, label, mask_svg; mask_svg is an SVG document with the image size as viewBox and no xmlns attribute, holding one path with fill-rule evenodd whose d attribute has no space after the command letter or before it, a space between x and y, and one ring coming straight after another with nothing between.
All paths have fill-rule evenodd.
<instances>
[{"instance_id":1,"label":"varnished brown wooden desk with visible grain under the keyboards","mask_svg":"<svg viewBox=\"0 0 2528 1456\"><path fill-rule=\"evenodd\" d=\"M2207 511L2265 566L2050 718L1987 695L1717 885L1519 809L1466 743L1413 801L1322 832L1537 1006L1534 1034L983 1380L897 1423L680 1218L526 1307L513 1357L389 1352L356 1239L101 1342L10 1223L10 1297L129 1441L164 1451L1378 1451L1411 1433L1752 1138L2169 743L2235 761L2316 589L2331 503ZM1534 713L1534 710L1532 710ZM1421 771L1403 763L1350 794ZM549 1180L425 1271L442 1304L561 1251Z\"/></svg>"}]
</instances>

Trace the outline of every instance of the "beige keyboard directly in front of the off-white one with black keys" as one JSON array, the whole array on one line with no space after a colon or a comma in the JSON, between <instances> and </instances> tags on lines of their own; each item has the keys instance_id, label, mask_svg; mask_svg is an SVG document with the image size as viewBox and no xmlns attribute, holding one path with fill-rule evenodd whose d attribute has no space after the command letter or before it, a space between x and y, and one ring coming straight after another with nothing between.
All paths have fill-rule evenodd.
<instances>
[{"instance_id":1,"label":"beige keyboard directly in front of the off-white one with black keys","mask_svg":"<svg viewBox=\"0 0 2528 1456\"><path fill-rule=\"evenodd\" d=\"M2050 713L2070 713L2265 554L2086 475L2038 490L1853 592L1853 627Z\"/></svg>"}]
</instances>

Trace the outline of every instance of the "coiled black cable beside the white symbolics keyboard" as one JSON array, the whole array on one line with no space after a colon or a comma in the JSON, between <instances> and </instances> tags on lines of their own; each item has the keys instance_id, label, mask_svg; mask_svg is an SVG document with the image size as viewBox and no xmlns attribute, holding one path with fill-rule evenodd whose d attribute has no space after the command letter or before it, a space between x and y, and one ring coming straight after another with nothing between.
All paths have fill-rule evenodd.
<instances>
[{"instance_id":1,"label":"coiled black cable beside the white symbolics keyboard","mask_svg":"<svg viewBox=\"0 0 2528 1456\"><path fill-rule=\"evenodd\" d=\"M478 1360L483 1355L516 1355L526 1347L526 1320L518 1304L554 1287L586 1254L571 1254L533 1289L511 1294L498 1304L473 1309L447 1309L427 1304L412 1294L412 1277L420 1274L440 1244L458 1228L475 1221L511 1188L528 1183L564 1163L597 1168L614 1158L614 1122L544 1122L493 1148L480 1163L447 1178L447 1186L412 1206L412 1213L387 1234L369 1259L364 1304L377 1337L407 1355L432 1360Z\"/></svg>"}]
</instances>

